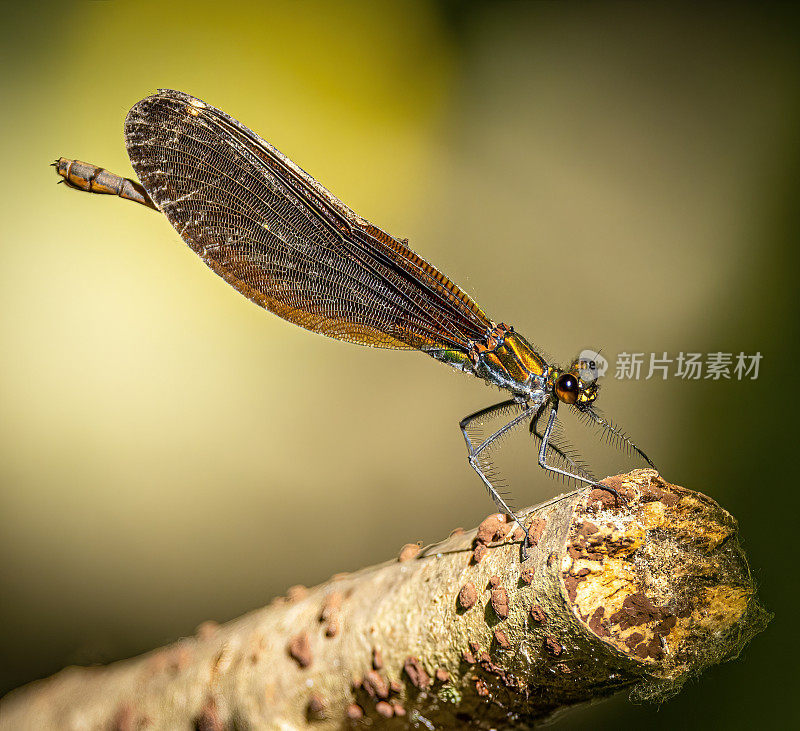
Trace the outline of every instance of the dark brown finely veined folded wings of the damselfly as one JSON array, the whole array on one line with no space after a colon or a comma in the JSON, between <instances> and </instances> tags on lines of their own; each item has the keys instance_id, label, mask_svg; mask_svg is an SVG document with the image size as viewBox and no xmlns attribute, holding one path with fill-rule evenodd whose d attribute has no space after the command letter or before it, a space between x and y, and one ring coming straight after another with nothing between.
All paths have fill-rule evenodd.
<instances>
[{"instance_id":1,"label":"dark brown finely veined folded wings of the damselfly","mask_svg":"<svg viewBox=\"0 0 800 731\"><path fill-rule=\"evenodd\" d=\"M258 305L361 345L465 350L493 324L441 272L224 112L160 90L125 120L136 174L184 241Z\"/></svg>"}]
</instances>

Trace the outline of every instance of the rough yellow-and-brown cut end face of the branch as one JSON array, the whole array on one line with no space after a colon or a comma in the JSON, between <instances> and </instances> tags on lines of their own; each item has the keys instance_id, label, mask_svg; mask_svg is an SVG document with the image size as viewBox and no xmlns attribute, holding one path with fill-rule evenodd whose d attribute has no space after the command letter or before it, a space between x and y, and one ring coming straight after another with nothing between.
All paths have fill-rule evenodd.
<instances>
[{"instance_id":1,"label":"rough yellow-and-brown cut end face of the branch","mask_svg":"<svg viewBox=\"0 0 800 731\"><path fill-rule=\"evenodd\" d=\"M575 507L561 558L574 615L640 663L634 696L662 701L710 665L736 657L770 619L756 600L734 518L655 470L604 481Z\"/></svg>"}]
</instances>

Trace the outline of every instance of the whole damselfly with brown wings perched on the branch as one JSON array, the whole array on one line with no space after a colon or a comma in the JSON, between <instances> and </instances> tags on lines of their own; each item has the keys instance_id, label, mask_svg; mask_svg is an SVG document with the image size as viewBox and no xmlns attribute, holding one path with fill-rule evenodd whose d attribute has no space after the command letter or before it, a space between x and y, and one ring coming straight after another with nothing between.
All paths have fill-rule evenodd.
<instances>
[{"instance_id":1,"label":"whole damselfly with brown wings perched on the branch","mask_svg":"<svg viewBox=\"0 0 800 731\"><path fill-rule=\"evenodd\" d=\"M125 144L140 182L67 158L53 163L59 182L160 211L214 273L289 322L358 345L421 351L506 392L506 400L470 414L460 428L469 464L526 536L493 456L516 427L528 425L542 469L616 499L558 435L561 406L655 468L596 408L596 373L584 361L568 368L548 362L406 239L356 214L225 112L161 89L128 113ZM502 426L483 433L501 418Z\"/></svg>"}]
</instances>

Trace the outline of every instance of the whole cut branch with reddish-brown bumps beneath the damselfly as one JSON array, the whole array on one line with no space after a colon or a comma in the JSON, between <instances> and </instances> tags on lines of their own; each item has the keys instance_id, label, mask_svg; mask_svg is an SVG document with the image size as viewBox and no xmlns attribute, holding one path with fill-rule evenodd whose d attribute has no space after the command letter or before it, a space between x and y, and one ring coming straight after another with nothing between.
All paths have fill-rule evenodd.
<instances>
[{"instance_id":1,"label":"whole cut branch with reddish-brown bumps beneath the damselfly","mask_svg":"<svg viewBox=\"0 0 800 731\"><path fill-rule=\"evenodd\" d=\"M501 515L224 626L10 693L2 729L527 727L663 700L769 621L733 517L653 470Z\"/></svg>"}]
</instances>

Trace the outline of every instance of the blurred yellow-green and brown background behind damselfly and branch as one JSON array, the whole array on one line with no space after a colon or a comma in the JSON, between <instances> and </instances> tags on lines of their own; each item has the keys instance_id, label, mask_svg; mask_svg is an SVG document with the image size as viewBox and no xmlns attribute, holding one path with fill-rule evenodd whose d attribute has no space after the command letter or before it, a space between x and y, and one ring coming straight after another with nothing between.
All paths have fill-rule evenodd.
<instances>
[{"instance_id":1,"label":"blurred yellow-green and brown background behind damselfly and branch","mask_svg":"<svg viewBox=\"0 0 800 731\"><path fill-rule=\"evenodd\" d=\"M755 381L606 378L599 405L668 479L738 518L774 621L660 708L622 695L554 727L792 725L788 5L67 0L2 14L1 691L149 650L493 508L458 421L496 390L289 325L161 216L55 184L62 155L131 175L125 114L167 87L243 121L562 362L586 347L762 353ZM576 441L603 474L635 466L593 433ZM524 439L506 457L518 505L560 491Z\"/></svg>"}]
</instances>

